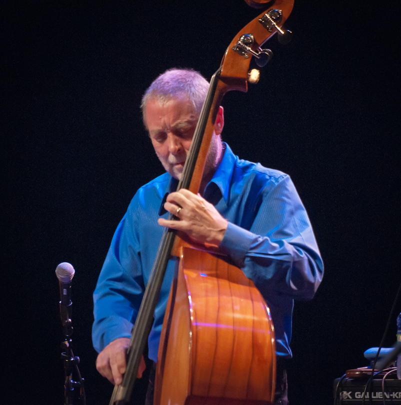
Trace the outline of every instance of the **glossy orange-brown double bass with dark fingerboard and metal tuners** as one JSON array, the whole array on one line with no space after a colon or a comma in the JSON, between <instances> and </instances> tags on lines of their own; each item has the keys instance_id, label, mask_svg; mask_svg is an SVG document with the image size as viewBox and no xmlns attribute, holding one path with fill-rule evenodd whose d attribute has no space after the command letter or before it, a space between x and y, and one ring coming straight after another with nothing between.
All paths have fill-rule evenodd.
<instances>
[{"instance_id":1,"label":"glossy orange-brown double bass with dark fingerboard and metal tuners","mask_svg":"<svg viewBox=\"0 0 401 405\"><path fill-rule=\"evenodd\" d=\"M268 6L232 39L210 80L177 190L197 193L213 124L224 94L247 91L257 81L253 57L263 66L271 57L262 44L281 29L293 0L245 0ZM172 214L168 219L177 219ZM274 327L269 308L253 282L218 251L189 244L166 228L158 247L127 349L121 384L109 405L129 401L141 355L153 323L161 283L171 256L176 272L163 320L157 356L154 405L261 405L272 403L275 386Z\"/></svg>"}]
</instances>

